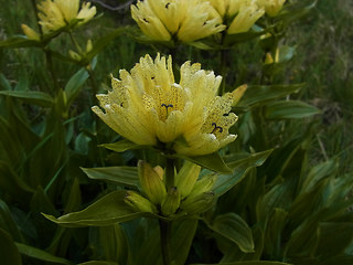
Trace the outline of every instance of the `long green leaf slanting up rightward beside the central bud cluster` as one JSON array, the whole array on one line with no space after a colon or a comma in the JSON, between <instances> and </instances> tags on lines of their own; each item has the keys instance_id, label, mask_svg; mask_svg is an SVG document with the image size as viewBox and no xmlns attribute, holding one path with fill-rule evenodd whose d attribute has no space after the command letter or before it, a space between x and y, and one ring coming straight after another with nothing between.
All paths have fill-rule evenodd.
<instances>
[{"instance_id":1,"label":"long green leaf slanting up rightward beside the central bud cluster","mask_svg":"<svg viewBox=\"0 0 353 265\"><path fill-rule=\"evenodd\" d=\"M231 190L235 184L243 180L248 170L255 167L261 166L272 150L267 150L263 152L253 153L247 158L239 159L233 162L228 162L228 168L233 169L232 174L220 174L215 184L213 186L213 191L217 197L221 197L228 190Z\"/></svg>"}]
</instances>

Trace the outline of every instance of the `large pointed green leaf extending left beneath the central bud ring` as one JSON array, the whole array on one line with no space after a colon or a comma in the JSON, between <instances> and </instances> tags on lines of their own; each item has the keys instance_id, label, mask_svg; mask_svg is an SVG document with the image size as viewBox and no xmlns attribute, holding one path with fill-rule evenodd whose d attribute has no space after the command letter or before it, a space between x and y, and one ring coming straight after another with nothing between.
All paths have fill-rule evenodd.
<instances>
[{"instance_id":1,"label":"large pointed green leaf extending left beneath the central bud ring","mask_svg":"<svg viewBox=\"0 0 353 265\"><path fill-rule=\"evenodd\" d=\"M133 211L125 203L125 191L114 191L79 212L68 213L57 219L47 214L43 215L67 227L104 226L150 215L148 213Z\"/></svg>"}]
</instances>

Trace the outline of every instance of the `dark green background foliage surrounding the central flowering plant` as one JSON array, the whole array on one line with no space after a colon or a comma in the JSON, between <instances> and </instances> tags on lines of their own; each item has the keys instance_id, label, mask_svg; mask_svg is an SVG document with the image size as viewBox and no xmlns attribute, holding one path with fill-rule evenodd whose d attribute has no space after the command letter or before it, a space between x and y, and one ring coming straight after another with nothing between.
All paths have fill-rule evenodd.
<instances>
[{"instance_id":1,"label":"dark green background foliage surrounding the central flowering plant","mask_svg":"<svg viewBox=\"0 0 353 265\"><path fill-rule=\"evenodd\" d=\"M73 229L41 213L79 211L136 187L137 160L153 155L99 147L119 138L90 106L97 91L109 89L109 73L171 51L137 42L129 9L96 4L103 15L74 33L79 45L92 39L95 49L74 61L75 47L61 34L50 44L51 73L41 49L4 47L22 34L21 23L35 26L31 1L0 4L2 263L162 264L154 219ZM287 29L279 64L264 65L258 39L228 53L226 89L249 85L235 109L239 138L221 153L235 168L231 178L221 174L232 189L218 186L224 195L200 220L173 224L176 264L352 264L352 23L350 1L320 0ZM179 65L191 60L221 74L216 52L179 46L173 53ZM117 168L96 169L109 166Z\"/></svg>"}]
</instances>

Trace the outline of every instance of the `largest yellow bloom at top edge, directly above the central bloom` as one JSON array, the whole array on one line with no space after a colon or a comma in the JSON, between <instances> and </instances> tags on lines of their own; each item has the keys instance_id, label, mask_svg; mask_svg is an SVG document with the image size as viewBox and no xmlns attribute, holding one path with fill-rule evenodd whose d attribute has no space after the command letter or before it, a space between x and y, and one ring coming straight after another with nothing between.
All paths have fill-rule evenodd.
<instances>
[{"instance_id":1,"label":"largest yellow bloom at top edge, directly above the central bloom","mask_svg":"<svg viewBox=\"0 0 353 265\"><path fill-rule=\"evenodd\" d=\"M157 41L192 42L225 29L215 9L203 0L145 0L131 4L132 19Z\"/></svg>"}]
</instances>

